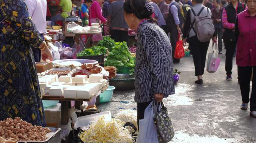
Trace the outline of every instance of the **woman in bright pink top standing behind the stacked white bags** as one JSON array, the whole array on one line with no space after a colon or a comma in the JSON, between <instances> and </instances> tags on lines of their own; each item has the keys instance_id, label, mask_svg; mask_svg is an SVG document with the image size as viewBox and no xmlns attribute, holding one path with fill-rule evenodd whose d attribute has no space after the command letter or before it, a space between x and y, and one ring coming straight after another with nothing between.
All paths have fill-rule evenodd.
<instances>
[{"instance_id":1,"label":"woman in bright pink top standing behind the stacked white bags","mask_svg":"<svg viewBox=\"0 0 256 143\"><path fill-rule=\"evenodd\" d=\"M103 4L104 0L95 0L89 10L89 25L91 23L106 23L107 20L102 16L101 5ZM94 34L92 36L92 41L94 45L98 43L98 41L102 40L102 34Z\"/></svg>"}]
</instances>

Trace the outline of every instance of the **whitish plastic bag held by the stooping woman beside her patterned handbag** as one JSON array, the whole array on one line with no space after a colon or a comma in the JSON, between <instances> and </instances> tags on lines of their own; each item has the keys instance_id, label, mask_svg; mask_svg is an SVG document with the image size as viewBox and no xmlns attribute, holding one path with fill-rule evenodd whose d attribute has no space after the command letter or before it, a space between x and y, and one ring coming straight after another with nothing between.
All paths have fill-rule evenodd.
<instances>
[{"instance_id":1,"label":"whitish plastic bag held by the stooping woman beside her patterned handbag","mask_svg":"<svg viewBox=\"0 0 256 143\"><path fill-rule=\"evenodd\" d=\"M153 117L153 101L147 106L144 112L144 119L139 120L140 131L136 143L158 143L156 125Z\"/></svg>"}]
</instances>

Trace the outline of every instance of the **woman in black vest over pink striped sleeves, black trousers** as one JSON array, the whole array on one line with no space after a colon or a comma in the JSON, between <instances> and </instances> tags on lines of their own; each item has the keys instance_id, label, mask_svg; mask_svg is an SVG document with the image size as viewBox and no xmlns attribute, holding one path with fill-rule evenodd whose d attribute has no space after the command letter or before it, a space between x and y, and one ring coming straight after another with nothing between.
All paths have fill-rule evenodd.
<instances>
[{"instance_id":1,"label":"woman in black vest over pink striped sleeves, black trousers","mask_svg":"<svg viewBox=\"0 0 256 143\"><path fill-rule=\"evenodd\" d=\"M235 19L240 12L245 10L245 8L245 4L241 3L239 0L231 0L228 6L223 9L222 23L225 31L222 38L226 47L226 80L232 80L233 56L236 48L234 35Z\"/></svg>"}]
</instances>

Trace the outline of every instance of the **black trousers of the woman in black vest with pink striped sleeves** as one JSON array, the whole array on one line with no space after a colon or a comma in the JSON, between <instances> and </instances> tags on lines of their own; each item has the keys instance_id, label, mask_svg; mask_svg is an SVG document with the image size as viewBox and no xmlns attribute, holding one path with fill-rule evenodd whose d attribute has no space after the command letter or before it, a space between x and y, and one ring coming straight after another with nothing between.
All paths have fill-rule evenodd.
<instances>
[{"instance_id":1,"label":"black trousers of the woman in black vest with pink striped sleeves","mask_svg":"<svg viewBox=\"0 0 256 143\"><path fill-rule=\"evenodd\" d=\"M224 40L224 44L226 47L226 63L225 63L225 70L226 74L232 74L233 68L233 57L235 53L235 41ZM238 76L239 77L239 76Z\"/></svg>"}]
</instances>

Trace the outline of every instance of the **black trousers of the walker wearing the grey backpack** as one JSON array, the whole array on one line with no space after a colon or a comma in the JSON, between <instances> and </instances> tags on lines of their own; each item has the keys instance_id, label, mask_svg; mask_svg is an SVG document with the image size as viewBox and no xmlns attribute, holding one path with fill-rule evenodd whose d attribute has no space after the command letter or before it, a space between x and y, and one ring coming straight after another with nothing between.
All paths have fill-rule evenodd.
<instances>
[{"instance_id":1,"label":"black trousers of the walker wearing the grey backpack","mask_svg":"<svg viewBox=\"0 0 256 143\"><path fill-rule=\"evenodd\" d=\"M189 46L193 50L193 61L195 65L195 76L201 76L204 74L204 67L206 61L207 50L210 41L200 42L196 36L189 38Z\"/></svg>"}]
</instances>

